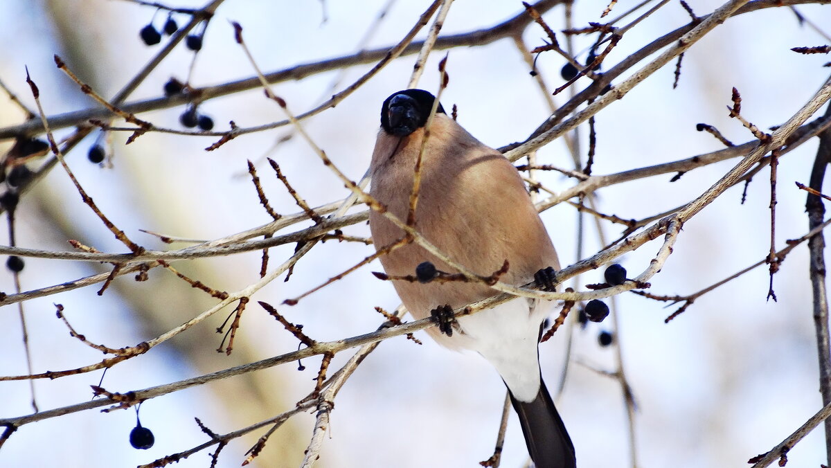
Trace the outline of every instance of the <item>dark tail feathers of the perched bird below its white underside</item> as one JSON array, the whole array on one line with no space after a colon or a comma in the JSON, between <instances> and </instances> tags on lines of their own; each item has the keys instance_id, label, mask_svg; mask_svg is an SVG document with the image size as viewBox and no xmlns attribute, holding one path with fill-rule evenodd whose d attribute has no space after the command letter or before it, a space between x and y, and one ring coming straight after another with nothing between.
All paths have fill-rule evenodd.
<instances>
[{"instance_id":1,"label":"dark tail feathers of the perched bird below its white underside","mask_svg":"<svg viewBox=\"0 0 831 468\"><path fill-rule=\"evenodd\" d=\"M542 379L534 401L511 403L519 416L525 444L536 468L575 468L574 445Z\"/></svg>"}]
</instances>

